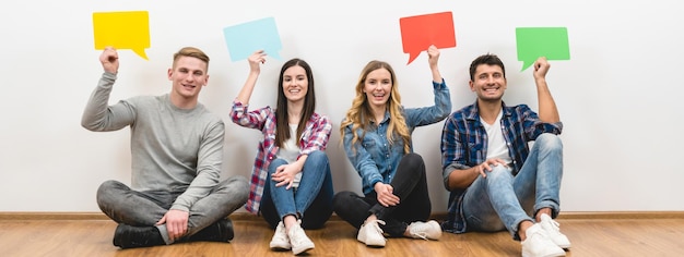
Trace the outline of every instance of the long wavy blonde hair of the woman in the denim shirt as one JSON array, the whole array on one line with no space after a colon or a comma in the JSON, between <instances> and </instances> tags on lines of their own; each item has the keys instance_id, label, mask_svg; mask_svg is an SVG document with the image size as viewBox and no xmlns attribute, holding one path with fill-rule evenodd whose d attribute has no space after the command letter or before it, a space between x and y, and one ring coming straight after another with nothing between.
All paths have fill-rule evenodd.
<instances>
[{"instance_id":1,"label":"long wavy blonde hair of the woman in the denim shirt","mask_svg":"<svg viewBox=\"0 0 684 257\"><path fill-rule=\"evenodd\" d=\"M365 136L365 133L370 125L373 113L370 111L368 98L364 93L364 86L368 73L379 69L387 70L392 79L392 88L390 90L389 99L386 102L386 107L387 110L389 110L390 115L387 139L390 144L394 144L397 136L401 137L401 140L404 144L404 154L409 154L411 151L411 135L409 133L409 127L406 126L406 120L402 113L401 96L399 95L397 76L394 75L392 66L390 66L387 62L374 60L368 62L364 70L362 70L356 83L356 96L354 97L354 100L352 100L352 107L349 111L346 111L346 115L340 125L340 133L342 134L342 137L344 137L344 128L352 124L352 133L354 133L352 145L358 144L359 138L363 139ZM376 123L379 122L380 121L376 121ZM364 134L361 136L356 133L358 128L364 131Z\"/></svg>"}]
</instances>

